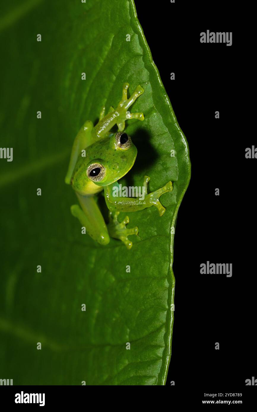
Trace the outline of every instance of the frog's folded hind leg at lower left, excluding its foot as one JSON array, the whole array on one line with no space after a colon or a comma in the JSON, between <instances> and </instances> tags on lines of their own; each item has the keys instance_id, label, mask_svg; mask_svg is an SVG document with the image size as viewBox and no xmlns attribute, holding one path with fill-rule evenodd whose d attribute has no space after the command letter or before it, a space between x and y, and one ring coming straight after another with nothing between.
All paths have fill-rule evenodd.
<instances>
[{"instance_id":1,"label":"frog's folded hind leg at lower left, excluding its foot","mask_svg":"<svg viewBox=\"0 0 257 412\"><path fill-rule=\"evenodd\" d=\"M107 245L110 241L104 218L97 206L94 197L77 194L80 206L71 206L71 213L78 218L81 225L86 228L86 233L101 245Z\"/></svg>"}]
</instances>

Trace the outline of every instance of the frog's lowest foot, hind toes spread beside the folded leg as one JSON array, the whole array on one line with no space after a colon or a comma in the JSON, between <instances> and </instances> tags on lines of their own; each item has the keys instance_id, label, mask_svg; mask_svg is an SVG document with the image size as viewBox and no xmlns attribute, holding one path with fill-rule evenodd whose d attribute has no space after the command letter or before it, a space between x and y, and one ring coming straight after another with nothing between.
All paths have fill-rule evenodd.
<instances>
[{"instance_id":1,"label":"frog's lowest foot, hind toes spread beside the folded leg","mask_svg":"<svg viewBox=\"0 0 257 412\"><path fill-rule=\"evenodd\" d=\"M135 226L132 229L127 229L126 225L129 223L128 216L125 217L123 222L118 221L118 214L120 212L110 212L109 211L109 223L107 225L108 233L111 237L115 239L120 239L123 243L125 243L127 249L132 248L132 241L127 239L127 236L131 234L138 234L138 227Z\"/></svg>"}]
</instances>

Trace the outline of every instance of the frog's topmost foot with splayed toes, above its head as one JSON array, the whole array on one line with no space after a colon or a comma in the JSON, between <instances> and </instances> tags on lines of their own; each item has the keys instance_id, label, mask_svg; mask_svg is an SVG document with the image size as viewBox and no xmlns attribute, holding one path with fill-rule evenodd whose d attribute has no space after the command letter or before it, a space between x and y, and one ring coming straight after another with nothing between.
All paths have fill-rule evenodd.
<instances>
[{"instance_id":1,"label":"frog's topmost foot with splayed toes, above its head","mask_svg":"<svg viewBox=\"0 0 257 412\"><path fill-rule=\"evenodd\" d=\"M127 109L134 103L134 101L144 93L144 89L141 86L137 86L135 89L134 93L130 96L130 98L127 98L127 89L129 87L128 83L123 84L123 89L122 89L122 98L120 103L118 104L118 107L116 111L119 113L119 117L117 120L117 125L119 131L123 131L125 128L125 120L126 119L139 119L139 120L144 120L144 115L143 113L130 113Z\"/></svg>"}]
</instances>

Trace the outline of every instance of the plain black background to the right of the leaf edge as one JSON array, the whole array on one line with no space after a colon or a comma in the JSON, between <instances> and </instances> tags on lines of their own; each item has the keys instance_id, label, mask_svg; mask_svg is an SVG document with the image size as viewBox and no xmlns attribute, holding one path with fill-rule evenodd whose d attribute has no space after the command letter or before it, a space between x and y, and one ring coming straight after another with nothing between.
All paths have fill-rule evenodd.
<instances>
[{"instance_id":1,"label":"plain black background to the right of the leaf edge","mask_svg":"<svg viewBox=\"0 0 257 412\"><path fill-rule=\"evenodd\" d=\"M146 14L145 1L135 4L192 164L174 241L175 312L166 385L237 391L245 388L245 379L257 378L257 160L245 158L245 148L257 142L245 98L252 89L245 7L159 1L158 7L148 2ZM233 32L232 45L200 43L207 29ZM232 263L232 277L201 275L200 264L207 260Z\"/></svg>"}]
</instances>

